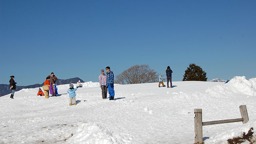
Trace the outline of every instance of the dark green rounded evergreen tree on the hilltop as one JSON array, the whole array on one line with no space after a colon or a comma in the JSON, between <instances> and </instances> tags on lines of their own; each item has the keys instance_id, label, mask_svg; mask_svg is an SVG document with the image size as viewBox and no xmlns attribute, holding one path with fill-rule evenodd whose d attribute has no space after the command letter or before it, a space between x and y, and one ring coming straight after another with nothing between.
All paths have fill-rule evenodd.
<instances>
[{"instance_id":1,"label":"dark green rounded evergreen tree on the hilltop","mask_svg":"<svg viewBox=\"0 0 256 144\"><path fill-rule=\"evenodd\" d=\"M206 72L195 63L189 64L182 81L207 81Z\"/></svg>"}]
</instances>

